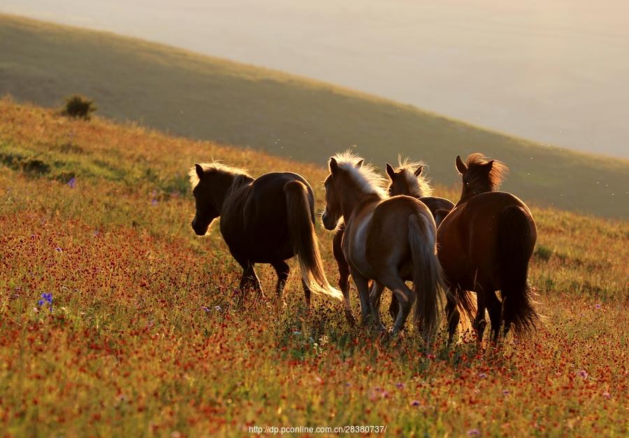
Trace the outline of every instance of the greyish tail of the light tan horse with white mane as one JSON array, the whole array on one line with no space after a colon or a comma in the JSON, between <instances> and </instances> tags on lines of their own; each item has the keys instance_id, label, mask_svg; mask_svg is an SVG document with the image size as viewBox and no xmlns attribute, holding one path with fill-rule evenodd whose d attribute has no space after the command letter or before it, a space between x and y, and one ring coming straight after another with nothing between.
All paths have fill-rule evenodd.
<instances>
[{"instance_id":1,"label":"greyish tail of the light tan horse with white mane","mask_svg":"<svg viewBox=\"0 0 629 438\"><path fill-rule=\"evenodd\" d=\"M432 223L431 223L432 222ZM437 330L442 302L443 277L437 258L435 225L426 216L414 214L408 219L408 242L413 264L413 292L417 299L413 316L429 341Z\"/></svg>"}]
</instances>

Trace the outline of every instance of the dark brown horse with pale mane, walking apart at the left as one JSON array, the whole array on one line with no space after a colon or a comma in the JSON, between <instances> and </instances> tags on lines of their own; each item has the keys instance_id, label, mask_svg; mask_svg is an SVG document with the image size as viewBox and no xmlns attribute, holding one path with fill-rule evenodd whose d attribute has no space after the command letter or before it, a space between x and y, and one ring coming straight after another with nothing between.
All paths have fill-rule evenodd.
<instances>
[{"instance_id":1,"label":"dark brown horse with pale mane, walking apart at the left","mask_svg":"<svg viewBox=\"0 0 629 438\"><path fill-rule=\"evenodd\" d=\"M342 299L324 274L314 227L315 197L308 181L291 172L253 178L219 163L195 164L189 175L196 202L192 229L203 236L212 220L221 216L223 239L243 267L241 290L262 292L254 264L270 263L277 272L275 291L281 296L289 276L284 260L297 255L308 305L310 291Z\"/></svg>"}]
</instances>

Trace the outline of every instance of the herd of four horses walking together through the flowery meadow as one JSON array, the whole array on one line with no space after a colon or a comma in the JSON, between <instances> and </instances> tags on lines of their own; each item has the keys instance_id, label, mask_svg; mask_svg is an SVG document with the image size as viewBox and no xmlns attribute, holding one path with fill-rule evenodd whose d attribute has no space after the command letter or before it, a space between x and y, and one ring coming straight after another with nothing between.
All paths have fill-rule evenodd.
<instances>
[{"instance_id":1,"label":"herd of four horses walking together through the flowery meadow","mask_svg":"<svg viewBox=\"0 0 629 438\"><path fill-rule=\"evenodd\" d=\"M359 293L362 323L378 330L385 330L379 309L382 292L389 288L394 333L402 330L414 306L414 325L431 341L444 296L449 342L461 312L473 320L479 342L485 311L493 341L511 327L520 336L527 334L538 318L527 280L537 232L528 207L497 191L507 167L479 153L466 162L456 157L462 181L456 205L431 197L423 167L405 160L393 169L387 163L387 181L352 153L330 158L322 221L336 232L333 254L342 292L324 273L315 234L315 197L298 174L253 178L218 162L195 164L189 174L196 203L192 228L204 235L221 217L221 234L243 267L240 290L261 292L254 264L269 263L277 272L275 291L281 296L289 276L285 260L296 255L306 303L310 305L311 291L342 299L350 323L349 275Z\"/></svg>"}]
</instances>

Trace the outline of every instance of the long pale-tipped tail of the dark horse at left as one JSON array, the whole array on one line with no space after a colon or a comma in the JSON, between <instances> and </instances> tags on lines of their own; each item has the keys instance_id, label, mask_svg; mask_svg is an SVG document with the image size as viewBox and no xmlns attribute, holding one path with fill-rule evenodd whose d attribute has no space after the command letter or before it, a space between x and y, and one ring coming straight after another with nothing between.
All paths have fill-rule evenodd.
<instances>
[{"instance_id":1,"label":"long pale-tipped tail of the dark horse at left","mask_svg":"<svg viewBox=\"0 0 629 438\"><path fill-rule=\"evenodd\" d=\"M301 278L312 292L342 299L342 293L328 283L324 272L308 200L308 188L301 181L289 181L284 185L284 193L289 234L301 267Z\"/></svg>"}]
</instances>

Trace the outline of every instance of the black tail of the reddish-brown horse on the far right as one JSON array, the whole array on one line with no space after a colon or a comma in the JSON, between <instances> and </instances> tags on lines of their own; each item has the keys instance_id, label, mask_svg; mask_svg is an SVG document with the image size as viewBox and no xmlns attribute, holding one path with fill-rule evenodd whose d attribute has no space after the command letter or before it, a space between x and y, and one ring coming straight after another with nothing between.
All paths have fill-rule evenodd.
<instances>
[{"instance_id":1,"label":"black tail of the reddish-brown horse on the far right","mask_svg":"<svg viewBox=\"0 0 629 438\"><path fill-rule=\"evenodd\" d=\"M502 211L498 227L498 260L505 327L513 325L517 335L535 328L539 316L533 307L533 291L528 284L528 262L533 248L528 213L521 206Z\"/></svg>"}]
</instances>

